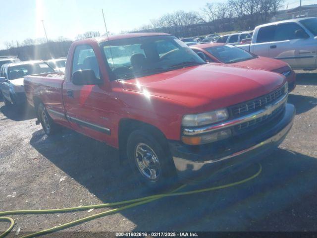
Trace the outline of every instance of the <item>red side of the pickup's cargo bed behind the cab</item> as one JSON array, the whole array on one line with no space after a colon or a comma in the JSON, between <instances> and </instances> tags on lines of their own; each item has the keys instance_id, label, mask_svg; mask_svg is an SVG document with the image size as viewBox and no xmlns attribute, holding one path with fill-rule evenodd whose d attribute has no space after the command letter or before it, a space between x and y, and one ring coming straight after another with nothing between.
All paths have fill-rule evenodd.
<instances>
[{"instance_id":1,"label":"red side of the pickup's cargo bed behind the cab","mask_svg":"<svg viewBox=\"0 0 317 238\"><path fill-rule=\"evenodd\" d=\"M42 102L48 111L65 113L62 99L64 74L61 72L29 75L24 78L24 90L31 106ZM51 115L51 113L49 112Z\"/></svg>"}]
</instances>

